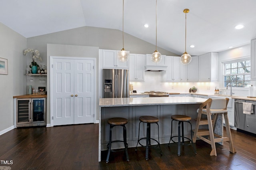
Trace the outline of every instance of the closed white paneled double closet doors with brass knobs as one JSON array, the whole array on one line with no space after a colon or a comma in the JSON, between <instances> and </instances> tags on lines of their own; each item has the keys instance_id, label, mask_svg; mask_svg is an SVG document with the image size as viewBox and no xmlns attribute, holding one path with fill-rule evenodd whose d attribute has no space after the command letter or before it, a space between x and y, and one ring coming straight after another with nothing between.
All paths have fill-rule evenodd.
<instances>
[{"instance_id":1,"label":"closed white paneled double closet doors with brass knobs","mask_svg":"<svg viewBox=\"0 0 256 170\"><path fill-rule=\"evenodd\" d=\"M52 58L54 126L94 122L94 64L94 59Z\"/></svg>"}]
</instances>

